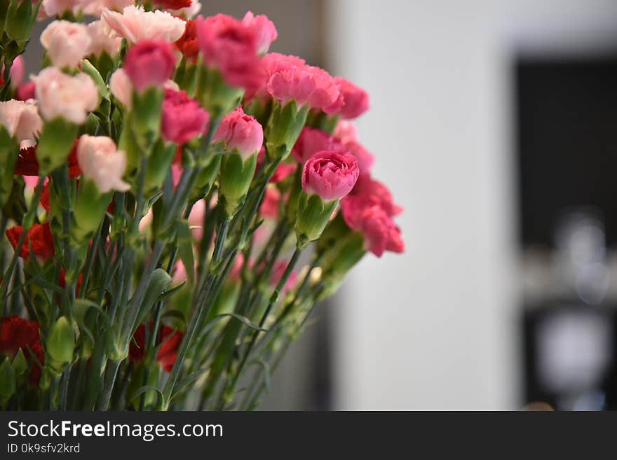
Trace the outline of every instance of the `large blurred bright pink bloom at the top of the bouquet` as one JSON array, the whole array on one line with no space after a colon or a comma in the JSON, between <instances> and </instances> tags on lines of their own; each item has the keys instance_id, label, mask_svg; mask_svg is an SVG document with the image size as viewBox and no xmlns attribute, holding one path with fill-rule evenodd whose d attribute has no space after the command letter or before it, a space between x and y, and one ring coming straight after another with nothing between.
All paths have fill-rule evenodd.
<instances>
[{"instance_id":1,"label":"large blurred bright pink bloom at the top of the bouquet","mask_svg":"<svg viewBox=\"0 0 617 460\"><path fill-rule=\"evenodd\" d=\"M259 88L263 74L254 27L224 14L197 18L196 27L208 67L217 69L228 85L253 91Z\"/></svg>"}]
</instances>

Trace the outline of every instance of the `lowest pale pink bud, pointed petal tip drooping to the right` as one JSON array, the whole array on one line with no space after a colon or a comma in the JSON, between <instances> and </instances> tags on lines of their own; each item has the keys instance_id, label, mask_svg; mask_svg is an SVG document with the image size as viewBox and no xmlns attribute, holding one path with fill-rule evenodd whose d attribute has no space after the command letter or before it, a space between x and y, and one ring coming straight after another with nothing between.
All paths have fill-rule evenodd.
<instances>
[{"instance_id":1,"label":"lowest pale pink bud, pointed petal tip drooping to the right","mask_svg":"<svg viewBox=\"0 0 617 460\"><path fill-rule=\"evenodd\" d=\"M110 137L83 134L77 144L77 162L82 175L94 181L101 193L111 190L125 192L130 188L122 180L126 153L118 151Z\"/></svg>"}]
</instances>

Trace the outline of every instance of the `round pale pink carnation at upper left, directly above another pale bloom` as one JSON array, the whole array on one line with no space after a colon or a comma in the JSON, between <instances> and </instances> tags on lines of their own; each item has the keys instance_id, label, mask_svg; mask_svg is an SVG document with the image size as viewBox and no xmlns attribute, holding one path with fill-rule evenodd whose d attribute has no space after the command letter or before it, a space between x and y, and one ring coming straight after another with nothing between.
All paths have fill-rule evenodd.
<instances>
[{"instance_id":1,"label":"round pale pink carnation at upper left, directly above another pale bloom","mask_svg":"<svg viewBox=\"0 0 617 460\"><path fill-rule=\"evenodd\" d=\"M55 67L77 67L90 49L88 27L79 22L53 21L41 33L41 44Z\"/></svg>"}]
</instances>

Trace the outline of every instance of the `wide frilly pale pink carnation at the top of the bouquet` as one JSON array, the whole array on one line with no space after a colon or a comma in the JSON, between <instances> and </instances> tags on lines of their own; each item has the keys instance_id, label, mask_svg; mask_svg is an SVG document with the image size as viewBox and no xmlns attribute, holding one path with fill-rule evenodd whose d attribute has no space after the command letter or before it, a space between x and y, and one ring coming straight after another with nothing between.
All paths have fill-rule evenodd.
<instances>
[{"instance_id":1,"label":"wide frilly pale pink carnation at the top of the bouquet","mask_svg":"<svg viewBox=\"0 0 617 460\"><path fill-rule=\"evenodd\" d=\"M185 22L166 11L144 11L143 6L127 6L122 13L103 8L101 21L104 27L129 43L151 39L169 43L184 34Z\"/></svg>"}]
</instances>

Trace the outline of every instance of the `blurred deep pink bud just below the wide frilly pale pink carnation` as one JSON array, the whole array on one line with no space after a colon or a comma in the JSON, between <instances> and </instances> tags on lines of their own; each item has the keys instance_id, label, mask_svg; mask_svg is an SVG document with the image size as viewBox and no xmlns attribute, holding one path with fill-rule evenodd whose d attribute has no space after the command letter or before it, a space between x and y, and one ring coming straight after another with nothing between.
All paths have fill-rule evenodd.
<instances>
[{"instance_id":1,"label":"blurred deep pink bud just below the wide frilly pale pink carnation","mask_svg":"<svg viewBox=\"0 0 617 460\"><path fill-rule=\"evenodd\" d=\"M172 46L162 40L142 40L126 53L124 69L138 92L168 81L176 66Z\"/></svg>"}]
</instances>

